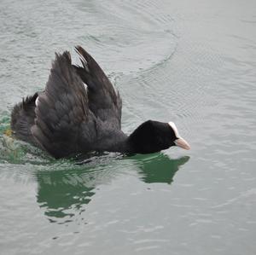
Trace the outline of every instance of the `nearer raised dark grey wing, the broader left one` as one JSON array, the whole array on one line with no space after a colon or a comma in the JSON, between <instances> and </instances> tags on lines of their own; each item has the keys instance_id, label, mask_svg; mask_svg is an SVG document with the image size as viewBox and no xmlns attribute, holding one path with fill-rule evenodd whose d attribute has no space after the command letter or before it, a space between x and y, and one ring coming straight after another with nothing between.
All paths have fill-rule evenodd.
<instances>
[{"instance_id":1,"label":"nearer raised dark grey wing, the broader left one","mask_svg":"<svg viewBox=\"0 0 256 255\"><path fill-rule=\"evenodd\" d=\"M55 158L67 157L81 150L84 127L90 131L87 146L95 139L93 114L88 107L84 84L65 51L55 55L49 80L36 101L36 119L32 136Z\"/></svg>"}]
</instances>

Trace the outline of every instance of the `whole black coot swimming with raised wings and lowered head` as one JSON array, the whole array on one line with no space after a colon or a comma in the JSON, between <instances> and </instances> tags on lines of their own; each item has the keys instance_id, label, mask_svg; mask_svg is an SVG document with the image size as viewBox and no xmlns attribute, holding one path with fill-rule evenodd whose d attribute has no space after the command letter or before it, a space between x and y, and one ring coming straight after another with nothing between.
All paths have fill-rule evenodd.
<instances>
[{"instance_id":1,"label":"whole black coot swimming with raised wings and lowered head","mask_svg":"<svg viewBox=\"0 0 256 255\"><path fill-rule=\"evenodd\" d=\"M172 146L189 149L172 122L148 120L125 135L119 92L82 47L76 51L82 67L72 64L67 51L55 54L45 90L15 105L14 136L56 159L92 151L150 154Z\"/></svg>"}]
</instances>

